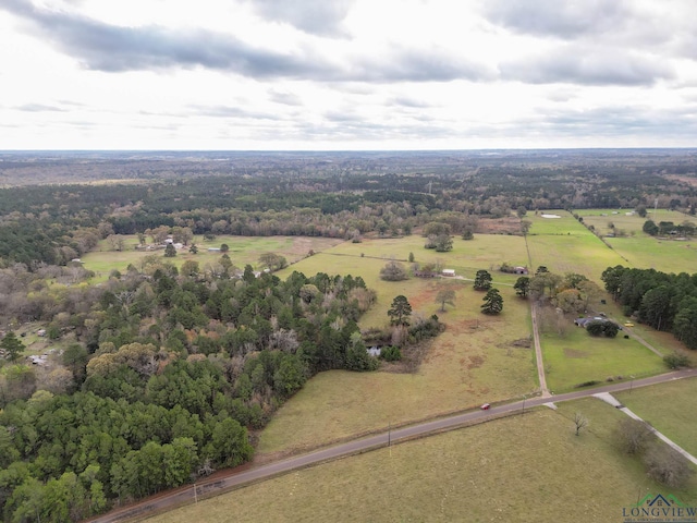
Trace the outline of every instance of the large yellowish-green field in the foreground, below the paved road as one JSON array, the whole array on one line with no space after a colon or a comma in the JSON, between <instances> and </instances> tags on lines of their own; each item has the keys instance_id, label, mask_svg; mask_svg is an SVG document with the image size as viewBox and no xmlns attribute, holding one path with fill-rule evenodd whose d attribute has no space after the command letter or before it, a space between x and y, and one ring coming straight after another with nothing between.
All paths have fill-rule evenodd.
<instances>
[{"instance_id":1,"label":"large yellowish-green field in the foreground, below the paved road","mask_svg":"<svg viewBox=\"0 0 697 523\"><path fill-rule=\"evenodd\" d=\"M574 435L580 412L589 426ZM623 521L623 507L647 494L697 503L651 482L621 453L614 428L624 414L600 400L560 403L299 470L154 516L189 521Z\"/></svg>"}]
</instances>

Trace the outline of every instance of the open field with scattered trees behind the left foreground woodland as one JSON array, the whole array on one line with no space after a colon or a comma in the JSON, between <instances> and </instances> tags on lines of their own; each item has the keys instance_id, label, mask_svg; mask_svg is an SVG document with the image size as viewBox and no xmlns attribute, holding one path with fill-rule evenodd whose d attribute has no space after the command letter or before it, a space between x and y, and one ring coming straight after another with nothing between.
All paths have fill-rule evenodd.
<instances>
[{"instance_id":1,"label":"open field with scattered trees behind the left foreground woodland","mask_svg":"<svg viewBox=\"0 0 697 523\"><path fill-rule=\"evenodd\" d=\"M121 252L113 251L111 245L106 240L102 240L96 251L83 256L82 260L85 268L95 271L97 281L107 279L113 269L125 271L130 264L140 268L143 259L152 255L161 256L163 260L168 260L178 267L187 259L193 259L204 268L206 264L216 263L222 256L219 252L208 252L208 248L220 247L223 243L227 243L230 247L228 256L230 256L232 263L240 268L244 268L247 264L256 267L259 256L264 253L280 254L285 256L289 264L293 264L307 256L310 250L317 253L343 242L343 240L330 238L305 236L217 236L213 241L206 241L203 236L195 236L193 243L198 247L197 254L191 254L188 247L184 247L173 258L164 258L163 250L135 251L134 247L137 244L135 235L124 236L124 239L125 247Z\"/></svg>"}]
</instances>

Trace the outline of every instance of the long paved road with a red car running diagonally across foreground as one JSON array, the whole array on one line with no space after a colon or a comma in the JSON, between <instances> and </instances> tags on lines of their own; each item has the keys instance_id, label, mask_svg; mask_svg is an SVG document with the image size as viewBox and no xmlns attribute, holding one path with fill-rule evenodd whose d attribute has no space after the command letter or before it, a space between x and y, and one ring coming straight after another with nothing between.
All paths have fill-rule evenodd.
<instances>
[{"instance_id":1,"label":"long paved road with a red car running diagonally across foreground","mask_svg":"<svg viewBox=\"0 0 697 523\"><path fill-rule=\"evenodd\" d=\"M457 414L457 415L441 418L441 419L436 419L428 423L421 423L419 425L396 428L394 430L390 430L383 434L378 434L369 438L348 441L343 445L330 447L328 449L318 450L316 452L298 455L295 458L290 458L288 460L269 463L267 465L261 465L256 469L247 470L244 472L233 471L230 473L230 475L225 477L220 477L218 479L209 479L207 482L201 482L196 486L192 485L192 486L172 491L171 494L159 495L150 500L142 501L138 504L119 509L117 511L112 511L108 514L105 514L91 521L94 521L95 523L97 522L112 523L112 522L123 522L123 521L127 521L136 518L145 518L146 515L148 515L149 513L156 510L163 510L167 508L175 507L178 504L183 504L185 502L194 501L197 496L204 496L212 491L220 491L231 487L244 485L246 483L266 479L282 473L286 473L296 469L302 469L304 466L321 463L325 461L330 461L330 460L334 460L334 459L351 455L351 454L366 452L380 447L386 447L393 442L404 441L407 439L423 437L429 434L435 434L435 433L439 433L447 429L452 429L469 422L475 422L475 421L481 422L488 418L494 418L497 416L510 414L515 411L522 411L524 405L527 409L531 406L542 405L545 403L549 403L550 401L560 402L560 401L575 400L578 398L590 397L599 392L616 392L619 390L625 390L625 389L636 388L636 387L645 387L648 385L656 385L656 384L661 384L665 381L671 381L674 379L695 377L695 376L697 376L697 368L692 368L687 370L662 374L660 376L652 376L650 378L635 379L629 382L625 381L622 384L613 384L613 385L608 385L604 387L598 387L594 389L585 389L585 390L579 390L575 392L568 392L565 394L553 396L551 398L541 397L541 398L526 399L524 401L516 401L513 403L494 405L488 411L476 410L476 411L466 412L463 414Z\"/></svg>"}]
</instances>

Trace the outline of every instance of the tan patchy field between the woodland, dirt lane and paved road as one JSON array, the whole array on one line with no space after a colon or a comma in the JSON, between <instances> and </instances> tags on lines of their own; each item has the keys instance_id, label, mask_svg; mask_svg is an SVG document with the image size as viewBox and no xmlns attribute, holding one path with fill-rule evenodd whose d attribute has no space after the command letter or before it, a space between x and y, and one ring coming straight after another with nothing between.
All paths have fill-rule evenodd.
<instances>
[{"instance_id":1,"label":"tan patchy field between the woodland, dirt lane and paved road","mask_svg":"<svg viewBox=\"0 0 697 523\"><path fill-rule=\"evenodd\" d=\"M405 295L415 311L438 313L439 282L408 283L414 287ZM259 452L305 450L388 424L530 393L537 388L533 350L513 346L530 336L527 304L510 288L501 293L503 314L487 317L479 312L482 294L463 284L456 306L438 313L448 328L430 342L416 374L329 372L314 377L261 433Z\"/></svg>"}]
</instances>

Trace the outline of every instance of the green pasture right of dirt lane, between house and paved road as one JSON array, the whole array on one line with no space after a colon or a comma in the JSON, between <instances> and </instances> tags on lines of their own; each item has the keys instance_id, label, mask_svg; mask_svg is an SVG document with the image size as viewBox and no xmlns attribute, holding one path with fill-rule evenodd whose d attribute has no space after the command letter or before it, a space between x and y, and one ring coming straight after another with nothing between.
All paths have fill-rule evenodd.
<instances>
[{"instance_id":1,"label":"green pasture right of dirt lane, between house and paved road","mask_svg":"<svg viewBox=\"0 0 697 523\"><path fill-rule=\"evenodd\" d=\"M547 385L553 392L568 391L586 381L612 377L648 376L665 372L662 360L634 338L595 338L573 324L563 336L540 333Z\"/></svg>"}]
</instances>

